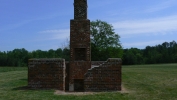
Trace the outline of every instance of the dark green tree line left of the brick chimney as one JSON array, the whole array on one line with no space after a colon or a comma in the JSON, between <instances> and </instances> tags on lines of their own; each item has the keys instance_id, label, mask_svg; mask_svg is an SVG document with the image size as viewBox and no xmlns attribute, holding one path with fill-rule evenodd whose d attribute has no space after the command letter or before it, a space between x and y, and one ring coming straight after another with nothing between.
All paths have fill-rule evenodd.
<instances>
[{"instance_id":1,"label":"dark green tree line left of the brick chimney","mask_svg":"<svg viewBox=\"0 0 177 100\"><path fill-rule=\"evenodd\" d=\"M15 66L26 67L28 59L31 58L64 58L69 60L69 49L50 49L48 51L36 50L28 52L24 48L14 49L13 51L1 52L0 51L0 66Z\"/></svg>"}]
</instances>

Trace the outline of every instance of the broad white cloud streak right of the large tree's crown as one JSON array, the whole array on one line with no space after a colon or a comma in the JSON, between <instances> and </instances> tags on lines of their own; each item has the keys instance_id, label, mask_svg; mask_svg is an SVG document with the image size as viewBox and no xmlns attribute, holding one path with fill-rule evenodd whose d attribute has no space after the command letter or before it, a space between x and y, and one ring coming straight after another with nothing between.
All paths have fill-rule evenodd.
<instances>
[{"instance_id":1,"label":"broad white cloud streak right of the large tree's crown","mask_svg":"<svg viewBox=\"0 0 177 100\"><path fill-rule=\"evenodd\" d=\"M127 20L112 24L121 35L157 34L177 31L177 15L144 20Z\"/></svg>"}]
</instances>

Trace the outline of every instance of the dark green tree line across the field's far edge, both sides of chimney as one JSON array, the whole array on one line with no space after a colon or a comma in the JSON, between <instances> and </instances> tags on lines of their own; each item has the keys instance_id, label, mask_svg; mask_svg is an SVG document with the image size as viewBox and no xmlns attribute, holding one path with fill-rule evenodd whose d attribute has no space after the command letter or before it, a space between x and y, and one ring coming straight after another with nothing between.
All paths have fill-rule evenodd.
<instances>
[{"instance_id":1,"label":"dark green tree line across the field's far edge, both sides of chimney","mask_svg":"<svg viewBox=\"0 0 177 100\"><path fill-rule=\"evenodd\" d=\"M121 50L118 48L105 48L101 50L92 50L92 61L105 61L107 58L120 57L115 55ZM159 64L159 63L177 63L177 43L164 42L156 46L146 46L145 49L130 48L122 50L122 60L124 65L134 64ZM0 51L0 66L27 66L28 59L31 58L64 58L69 61L69 48L50 49L48 51L35 50L32 52L26 49L14 49L12 51Z\"/></svg>"}]
</instances>

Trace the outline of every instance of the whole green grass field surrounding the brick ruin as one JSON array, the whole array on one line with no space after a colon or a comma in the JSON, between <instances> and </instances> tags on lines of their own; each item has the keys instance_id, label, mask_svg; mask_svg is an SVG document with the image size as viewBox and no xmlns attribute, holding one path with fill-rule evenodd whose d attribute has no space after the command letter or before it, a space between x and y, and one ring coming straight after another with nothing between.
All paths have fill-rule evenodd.
<instances>
[{"instance_id":1,"label":"whole green grass field surrounding the brick ruin","mask_svg":"<svg viewBox=\"0 0 177 100\"><path fill-rule=\"evenodd\" d=\"M0 67L0 100L177 100L177 64L122 66L126 92L55 95L55 90L25 90L27 68Z\"/></svg>"}]
</instances>

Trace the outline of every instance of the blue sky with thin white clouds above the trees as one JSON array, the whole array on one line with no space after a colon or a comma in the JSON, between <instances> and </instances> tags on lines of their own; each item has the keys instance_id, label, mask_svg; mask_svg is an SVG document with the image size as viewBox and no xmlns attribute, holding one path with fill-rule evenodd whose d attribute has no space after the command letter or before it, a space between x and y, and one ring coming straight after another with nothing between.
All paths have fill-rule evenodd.
<instances>
[{"instance_id":1,"label":"blue sky with thin white clouds above the trees","mask_svg":"<svg viewBox=\"0 0 177 100\"><path fill-rule=\"evenodd\" d=\"M113 25L123 48L177 42L177 0L87 0L88 19ZM74 0L0 0L0 51L67 45Z\"/></svg>"}]
</instances>

